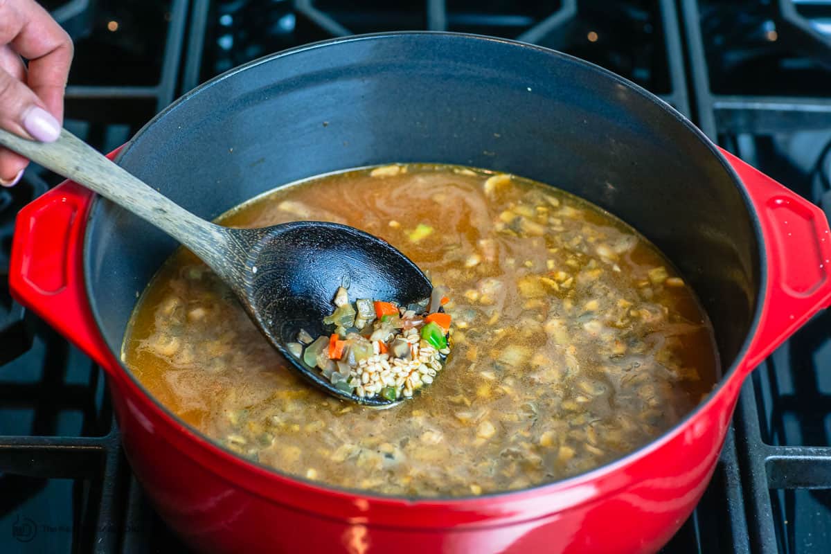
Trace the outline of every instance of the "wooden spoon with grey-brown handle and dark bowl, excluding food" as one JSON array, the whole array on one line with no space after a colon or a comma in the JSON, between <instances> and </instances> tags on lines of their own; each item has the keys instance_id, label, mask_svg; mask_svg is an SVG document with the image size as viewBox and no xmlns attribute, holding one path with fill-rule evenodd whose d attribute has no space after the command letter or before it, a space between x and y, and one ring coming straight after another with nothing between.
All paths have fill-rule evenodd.
<instances>
[{"instance_id":1,"label":"wooden spoon with grey-brown handle and dark bowl, excluding food","mask_svg":"<svg viewBox=\"0 0 831 554\"><path fill-rule=\"evenodd\" d=\"M339 390L286 347L301 328L312 336L325 332L322 319L332 313L332 297L342 285L352 298L401 305L430 296L430 280L389 243L337 223L298 221L249 229L209 223L67 130L52 143L0 130L0 145L101 194L184 244L231 287L272 346L313 385L356 404L387 407L401 401Z\"/></svg>"}]
</instances>

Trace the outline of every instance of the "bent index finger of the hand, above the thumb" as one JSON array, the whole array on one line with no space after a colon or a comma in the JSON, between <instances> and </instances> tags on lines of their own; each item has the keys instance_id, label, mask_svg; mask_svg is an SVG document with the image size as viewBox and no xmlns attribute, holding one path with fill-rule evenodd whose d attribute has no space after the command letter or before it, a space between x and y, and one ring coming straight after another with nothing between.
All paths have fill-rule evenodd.
<instances>
[{"instance_id":1,"label":"bent index finger of the hand, above the thumb","mask_svg":"<svg viewBox=\"0 0 831 554\"><path fill-rule=\"evenodd\" d=\"M28 60L27 84L57 120L63 119L63 97L72 41L35 0L0 0L0 44L8 43Z\"/></svg>"}]
</instances>

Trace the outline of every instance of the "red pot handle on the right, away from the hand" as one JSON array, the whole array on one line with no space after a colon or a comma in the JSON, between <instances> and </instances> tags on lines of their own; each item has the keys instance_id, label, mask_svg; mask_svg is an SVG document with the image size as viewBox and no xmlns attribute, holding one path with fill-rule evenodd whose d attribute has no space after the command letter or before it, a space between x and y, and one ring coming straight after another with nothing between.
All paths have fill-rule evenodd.
<instances>
[{"instance_id":1,"label":"red pot handle on the right, away from the hand","mask_svg":"<svg viewBox=\"0 0 831 554\"><path fill-rule=\"evenodd\" d=\"M758 169L721 151L745 184L765 237L768 275L752 370L831 303L831 233L823 211Z\"/></svg>"}]
</instances>

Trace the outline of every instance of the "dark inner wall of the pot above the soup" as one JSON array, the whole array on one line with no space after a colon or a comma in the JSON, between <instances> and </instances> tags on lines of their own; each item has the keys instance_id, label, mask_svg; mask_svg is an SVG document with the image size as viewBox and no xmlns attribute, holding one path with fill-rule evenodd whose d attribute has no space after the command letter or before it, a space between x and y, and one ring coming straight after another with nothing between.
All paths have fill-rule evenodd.
<instances>
[{"instance_id":1,"label":"dark inner wall of the pot above the soup","mask_svg":"<svg viewBox=\"0 0 831 554\"><path fill-rule=\"evenodd\" d=\"M507 171L607 208L671 257L711 316L725 369L735 360L760 260L732 174L666 106L567 56L429 33L307 47L195 91L120 158L209 219L280 184L396 161ZM175 246L124 209L96 203L86 276L113 351L136 293Z\"/></svg>"}]
</instances>

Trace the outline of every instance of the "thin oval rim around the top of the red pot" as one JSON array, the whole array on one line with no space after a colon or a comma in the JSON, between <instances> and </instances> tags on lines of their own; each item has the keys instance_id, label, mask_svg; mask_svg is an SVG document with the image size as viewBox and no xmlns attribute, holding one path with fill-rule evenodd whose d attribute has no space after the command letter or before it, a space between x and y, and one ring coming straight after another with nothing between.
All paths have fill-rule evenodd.
<instances>
[{"instance_id":1,"label":"thin oval rim around the top of the red pot","mask_svg":"<svg viewBox=\"0 0 831 554\"><path fill-rule=\"evenodd\" d=\"M618 84L627 87L627 89L633 92L637 92L637 94L639 96L642 96L646 101L652 101L653 103L658 105L662 110L665 110L667 115L671 115L671 117L673 117L679 123L681 123L681 125L683 125L686 128L686 130L695 135L696 138L699 141L701 141L703 145L706 146L707 150L710 150L711 154L715 156L715 159L718 160L722 168L730 176L730 179L732 179L735 188L738 189L741 199L745 203L745 208L747 209L748 215L750 216L750 221L752 223L753 231L756 238L757 256L759 260L759 285L754 298L755 310L753 313L752 320L750 322L750 327L747 332L747 336L745 336L745 341L742 343L740 350L735 355L735 360L730 365L730 367L727 370L721 368L722 375L720 377L720 380L716 382L711 392L706 396L706 399L699 402L699 404L697 404L694 409L685 414L685 416L681 418L675 425L673 425L670 429L667 429L664 433L662 433L652 441L642 445L638 449L632 450L631 452L625 454L621 458L617 458L612 462L605 463L587 472L578 473L577 475L573 475L572 477L560 479L558 481L553 481L551 483L541 483L533 487L523 488L516 491L499 491L495 493L484 493L478 496L471 494L470 496L459 497L413 498L373 493L371 491L356 488L335 487L327 483L311 481L306 478L302 478L301 476L295 476L290 473L284 473L282 471L279 471L278 469L271 468L264 464L253 462L251 460L243 458L242 456L239 456L233 451L226 449L221 444L214 442L213 439L209 439L209 437L207 437L205 434L202 434L198 429L195 429L193 426L186 423L183 419L180 419L178 415L173 413L164 404L161 404L159 400L157 400L154 395L151 395L150 391L148 391L145 388L145 386L142 385L140 380L138 380L135 377L135 375L133 375L130 369L126 367L124 362L121 360L120 355L118 355L118 353L111 351L111 353L113 354L113 360L116 362L117 370L119 371L118 375L120 375L121 377L126 377L127 380L129 380L130 385L132 385L140 391L143 397L142 400L145 400L145 404L149 404L153 409L155 409L158 416L160 416L162 419L168 420L169 423L175 423L179 428L176 429L177 434L183 437L188 437L188 440L193 444L194 447L206 449L214 457L219 456L220 458L224 458L225 462L233 464L234 466L245 471L246 473L258 473L259 477L269 478L275 484L289 485L293 487L299 486L300 488L306 488L307 490L312 489L315 493L329 497L363 499L379 506L384 504L401 505L401 503L405 503L407 506L411 507L419 505L429 506L437 504L443 506L464 505L474 507L475 505L494 503L494 501L499 503L504 501L537 497L543 494L552 495L569 489L574 490L576 488L579 488L581 485L584 485L585 483L593 482L599 478L607 477L612 473L616 473L617 470L619 470L620 468L623 468L631 463L635 463L638 459L647 456L649 453L652 453L657 449L660 449L663 444L666 444L667 442L676 438L678 434L681 434L687 427L689 427L693 419L696 419L696 417L698 417L702 412L711 409L711 406L715 404L715 401L717 400L717 398L720 397L720 395L730 394L729 392L725 392L725 390L727 390L727 385L729 385L736 379L744 379L745 372L741 370L744 369L745 358L747 357L750 351L750 346L759 330L760 319L765 307L766 292L768 290L769 284L769 275L767 254L765 252L766 238L761 228L759 214L757 213L755 204L750 199L750 194L748 193L745 184L742 182L739 175L735 172L735 169L725 158L725 156L721 154L719 148L715 145L715 143L713 143L712 140L707 135L705 135L703 131L696 127L696 125L693 125L693 123L690 120L688 120L685 115L681 114L681 112L676 110L666 101L663 101L660 97L652 94L652 92L647 91L642 86L639 86L636 83L629 81L626 78L603 68L602 66L597 66L596 64L593 64L590 61L585 61L576 56L571 56L569 54L563 53L561 51L556 51L551 48L540 47L527 42L519 42L516 40L501 37L490 37L475 33L445 31L393 31L366 33L361 35L352 35L349 37L336 37L318 42L311 42L302 46L289 48L283 51L273 52L266 56L259 57L255 60L248 61L247 63L244 63L240 66L236 66L228 71L225 71L224 73L219 74L218 76L214 76L209 81L205 81L199 86L194 87L194 89L184 93L184 95L180 96L178 99L173 101L170 105L165 107L164 110L160 111L159 114L155 115L152 119L145 123L145 125L143 125L140 128L140 130L138 130L135 133L135 135L133 135L130 138L130 140L128 140L120 148L120 151L117 154L116 159L114 161L116 162L116 164L120 164L120 160L128 151L130 151L130 148L135 144L135 141L138 140L141 137L141 135L143 135L153 125L155 125L155 123L158 120L164 118L170 111L175 110L179 107L179 105L184 104L190 98L198 95L200 92L208 89L210 86L214 86L215 84L219 83L219 81L224 81L225 79L228 79L236 75L237 73L247 71L248 69L254 66L258 66L263 63L268 63L270 61L283 58L285 56L292 56L293 54L297 54L302 51L311 51L317 50L318 48L335 47L337 46L337 44L340 44L342 42L395 39L396 37L399 37L401 35L431 37L431 40L433 38L449 38L456 40L462 39L470 41L500 42L504 43L509 47L528 48L531 50L543 52L548 56L557 57L563 61L576 63L580 66L586 67L587 69L593 70L598 76L601 76L602 78L612 79L613 81L616 81ZM99 206L100 200L101 197L99 195L92 196L90 207L87 212L87 222L89 222L89 220L91 220L91 218L94 217L96 209ZM106 199L104 200L106 201ZM90 252L90 249L88 248L91 242L90 228L91 226L87 224L84 230L83 239L82 256L84 264L84 286L86 289L87 301L89 302L93 320L96 324L96 331L98 331L101 334L101 336L103 336L103 327L101 325L100 313L96 306L96 302L92 301L92 298L94 297L91 290L91 282L86 278L86 276L89 274L91 270L90 257L87 255L87 252ZM733 390L733 395L737 396L738 390L739 387L735 387L735 390ZM730 403L730 405L732 405L732 403ZM201 463L203 466L205 465L201 461L199 463ZM213 468L205 468L211 471L212 473L215 473ZM263 490L263 488L250 488L248 486L243 485L243 483L239 483L239 480L234 480L234 478L229 477L229 475L227 474L224 474L223 478L228 479L229 481L234 481L235 484L246 488L246 490L248 490L250 493L257 494L258 496L261 496L263 498L268 498L271 501L280 500L278 498L274 498L273 495L266 493ZM619 486L622 486L622 484ZM619 486L617 488L619 488ZM610 492L611 491L607 489L603 490L603 494L607 494ZM573 503L571 505L576 506L582 503L586 503L592 500L593 498L595 498L594 494L575 495ZM552 511L556 510L553 509ZM534 517L529 516L527 519L533 518Z\"/></svg>"}]
</instances>

